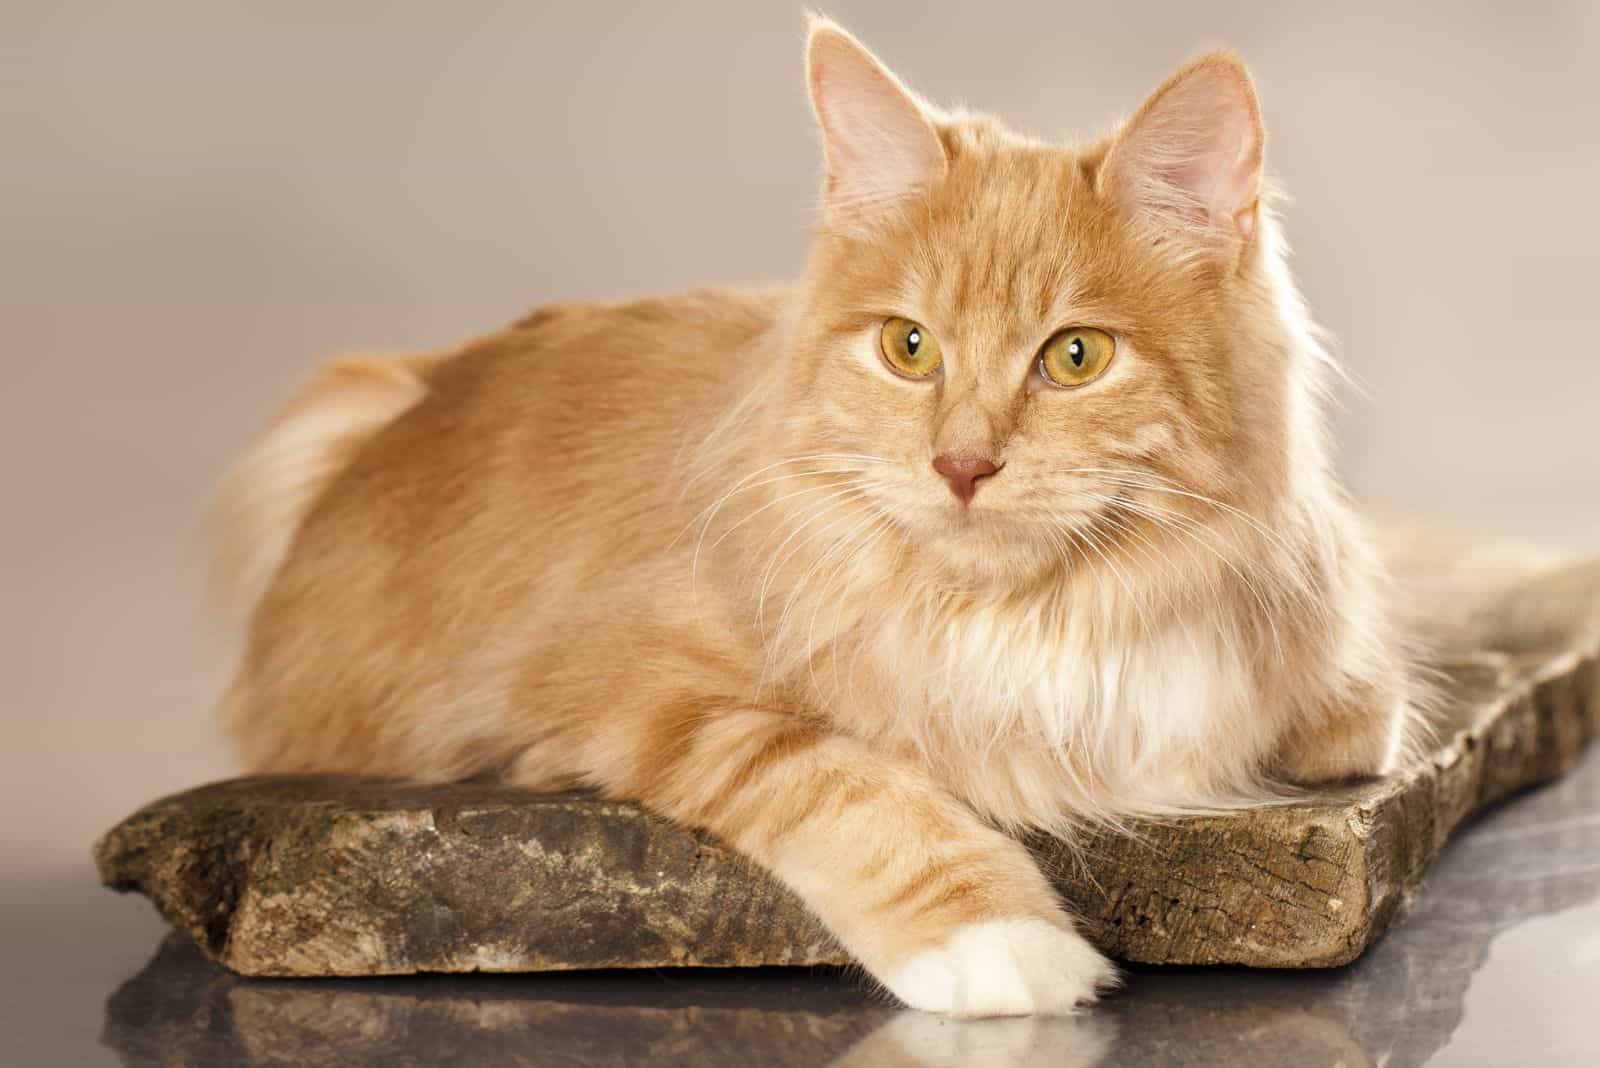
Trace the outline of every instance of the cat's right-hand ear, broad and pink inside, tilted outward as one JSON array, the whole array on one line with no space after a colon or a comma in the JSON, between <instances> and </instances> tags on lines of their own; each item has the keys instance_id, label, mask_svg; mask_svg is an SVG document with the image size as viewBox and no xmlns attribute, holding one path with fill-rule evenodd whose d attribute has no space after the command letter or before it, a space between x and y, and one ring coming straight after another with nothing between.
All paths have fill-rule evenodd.
<instances>
[{"instance_id":1,"label":"cat's right-hand ear, broad and pink inside, tilted outward","mask_svg":"<svg viewBox=\"0 0 1600 1068\"><path fill-rule=\"evenodd\" d=\"M1264 141L1250 72L1216 51L1168 78L1117 131L1101 189L1163 232L1227 256L1256 230Z\"/></svg>"}]
</instances>

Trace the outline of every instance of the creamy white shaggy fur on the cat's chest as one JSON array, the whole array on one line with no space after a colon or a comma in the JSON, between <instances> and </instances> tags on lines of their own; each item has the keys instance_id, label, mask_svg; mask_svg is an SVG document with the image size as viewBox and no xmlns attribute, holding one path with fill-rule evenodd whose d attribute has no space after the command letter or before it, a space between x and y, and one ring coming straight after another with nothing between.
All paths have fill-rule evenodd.
<instances>
[{"instance_id":1,"label":"creamy white shaggy fur on the cat's chest","mask_svg":"<svg viewBox=\"0 0 1600 1068\"><path fill-rule=\"evenodd\" d=\"M968 608L891 616L870 648L896 729L1005 822L1214 804L1266 743L1248 670L1211 620Z\"/></svg>"}]
</instances>

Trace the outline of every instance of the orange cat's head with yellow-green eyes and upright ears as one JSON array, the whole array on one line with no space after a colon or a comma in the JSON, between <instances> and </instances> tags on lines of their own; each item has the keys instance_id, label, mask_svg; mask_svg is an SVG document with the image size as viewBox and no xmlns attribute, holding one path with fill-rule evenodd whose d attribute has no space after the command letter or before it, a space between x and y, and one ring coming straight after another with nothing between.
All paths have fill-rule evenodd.
<instances>
[{"instance_id":1,"label":"orange cat's head with yellow-green eyes and upright ears","mask_svg":"<svg viewBox=\"0 0 1600 1068\"><path fill-rule=\"evenodd\" d=\"M1187 64L1083 145L934 110L826 21L808 80L826 189L789 452L840 457L955 568L1022 574L1229 515L1200 497L1253 508L1317 451L1296 440L1317 438L1296 414L1315 345L1235 56Z\"/></svg>"}]
</instances>

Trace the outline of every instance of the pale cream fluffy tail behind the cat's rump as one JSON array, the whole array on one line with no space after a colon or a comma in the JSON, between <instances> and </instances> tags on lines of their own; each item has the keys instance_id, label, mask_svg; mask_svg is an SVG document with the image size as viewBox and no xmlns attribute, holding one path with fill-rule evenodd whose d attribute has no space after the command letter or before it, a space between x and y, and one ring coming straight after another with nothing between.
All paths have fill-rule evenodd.
<instances>
[{"instance_id":1,"label":"pale cream fluffy tail behind the cat's rump","mask_svg":"<svg viewBox=\"0 0 1600 1068\"><path fill-rule=\"evenodd\" d=\"M355 452L427 393L438 357L344 357L317 373L227 473L211 513L211 600L243 624L306 515Z\"/></svg>"}]
</instances>

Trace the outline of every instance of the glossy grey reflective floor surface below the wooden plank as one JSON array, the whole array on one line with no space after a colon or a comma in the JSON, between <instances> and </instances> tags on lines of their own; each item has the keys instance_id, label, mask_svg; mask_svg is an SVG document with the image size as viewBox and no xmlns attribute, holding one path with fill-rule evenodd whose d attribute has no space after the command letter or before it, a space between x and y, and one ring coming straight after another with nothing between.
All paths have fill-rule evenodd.
<instances>
[{"instance_id":1,"label":"glossy grey reflective floor surface below the wooden plank","mask_svg":"<svg viewBox=\"0 0 1600 1068\"><path fill-rule=\"evenodd\" d=\"M1600 1063L1600 751L1470 827L1357 964L1139 969L1074 1020L938 1020L835 970L246 982L86 865L0 887L19 1068Z\"/></svg>"}]
</instances>

